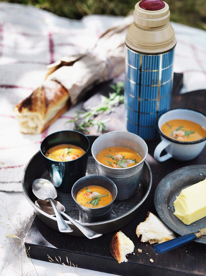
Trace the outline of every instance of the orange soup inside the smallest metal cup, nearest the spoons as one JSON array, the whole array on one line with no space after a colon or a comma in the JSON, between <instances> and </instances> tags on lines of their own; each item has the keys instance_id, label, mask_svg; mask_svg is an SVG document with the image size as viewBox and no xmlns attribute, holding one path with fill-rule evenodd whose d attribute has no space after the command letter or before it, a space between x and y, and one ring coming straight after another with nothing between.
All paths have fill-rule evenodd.
<instances>
[{"instance_id":1,"label":"orange soup inside the smallest metal cup, nearest the spoons","mask_svg":"<svg viewBox=\"0 0 206 276\"><path fill-rule=\"evenodd\" d=\"M99 208L108 205L113 200L111 193L100 186L87 186L79 190L76 201L88 208Z\"/></svg>"}]
</instances>

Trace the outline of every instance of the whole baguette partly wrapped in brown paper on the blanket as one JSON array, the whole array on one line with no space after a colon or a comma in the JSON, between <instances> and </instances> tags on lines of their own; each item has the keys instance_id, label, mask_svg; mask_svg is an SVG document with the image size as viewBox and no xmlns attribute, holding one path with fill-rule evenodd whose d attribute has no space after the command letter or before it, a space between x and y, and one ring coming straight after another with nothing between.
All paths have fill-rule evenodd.
<instances>
[{"instance_id":1,"label":"whole baguette partly wrapped in brown paper on the blanket","mask_svg":"<svg viewBox=\"0 0 206 276\"><path fill-rule=\"evenodd\" d=\"M106 31L85 54L50 64L42 87L15 107L22 133L41 133L95 84L124 72L124 40L132 17Z\"/></svg>"}]
</instances>

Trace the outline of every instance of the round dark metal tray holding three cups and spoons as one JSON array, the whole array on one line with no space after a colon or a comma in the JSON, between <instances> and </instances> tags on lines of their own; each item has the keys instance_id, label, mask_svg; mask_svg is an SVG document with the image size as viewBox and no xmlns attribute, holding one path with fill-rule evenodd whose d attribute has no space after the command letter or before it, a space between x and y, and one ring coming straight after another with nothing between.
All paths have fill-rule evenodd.
<instances>
[{"instance_id":1,"label":"round dark metal tray holding three cups and spoons","mask_svg":"<svg viewBox=\"0 0 206 276\"><path fill-rule=\"evenodd\" d=\"M92 146L93 141L97 138L97 136L88 136L90 140L90 148ZM97 174L95 160L91 156L91 152L89 153L88 165L87 165L87 173ZM22 177L22 187L23 192L29 201L29 203L35 209L37 216L49 227L58 231L57 219L56 217L50 216L41 209L39 209L35 204L35 200L37 198L34 196L31 185L33 181L37 178L45 178L50 180L49 172L47 171L46 165L44 164L44 160L42 155L37 152L31 160L26 165L26 168ZM92 184L91 184L92 185ZM147 161L145 161L143 166L143 172L141 176L140 185L133 197L129 198L125 201L114 201L113 209L112 209L112 218L107 221L101 222L93 222L93 223L82 223L86 225L88 228L102 234L111 233L120 229L121 227L128 224L138 213L140 206L148 197L148 194L151 190L152 186L152 174L151 169ZM73 217L74 219L79 219L79 211L76 207L76 203L74 202L71 193L65 193L58 191L58 196L56 198L59 202L61 202L65 206L65 213ZM66 223L73 229L73 232L66 233L68 235L80 236L83 234L76 228L75 225L71 224L71 222L66 221Z\"/></svg>"}]
</instances>

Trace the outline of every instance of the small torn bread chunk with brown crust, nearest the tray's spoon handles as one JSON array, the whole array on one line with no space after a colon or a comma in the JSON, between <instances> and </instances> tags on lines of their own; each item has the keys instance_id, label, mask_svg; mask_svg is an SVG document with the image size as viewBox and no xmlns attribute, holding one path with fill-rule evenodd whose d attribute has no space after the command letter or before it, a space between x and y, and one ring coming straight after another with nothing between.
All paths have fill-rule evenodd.
<instances>
[{"instance_id":1,"label":"small torn bread chunk with brown crust, nearest the tray's spoon handles","mask_svg":"<svg viewBox=\"0 0 206 276\"><path fill-rule=\"evenodd\" d=\"M109 245L110 252L114 259L121 262L127 262L126 255L134 251L133 242L121 231L113 235Z\"/></svg>"}]
</instances>

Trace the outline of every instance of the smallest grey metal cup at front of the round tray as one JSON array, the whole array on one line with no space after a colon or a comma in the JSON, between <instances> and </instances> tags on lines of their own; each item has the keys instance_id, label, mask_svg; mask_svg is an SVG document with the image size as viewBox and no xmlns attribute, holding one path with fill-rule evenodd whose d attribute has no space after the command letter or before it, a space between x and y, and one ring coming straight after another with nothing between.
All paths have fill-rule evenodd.
<instances>
[{"instance_id":1,"label":"smallest grey metal cup at front of the round tray","mask_svg":"<svg viewBox=\"0 0 206 276\"><path fill-rule=\"evenodd\" d=\"M113 197L113 200L106 206L99 208L89 208L82 206L76 201L76 195L85 186L101 186L106 188ZM71 190L71 195L76 202L77 208L79 209L79 220L81 222L98 222L111 219L111 211L113 206L113 201L117 196L117 187L113 181L109 178L100 175L89 175L79 179Z\"/></svg>"}]
</instances>

